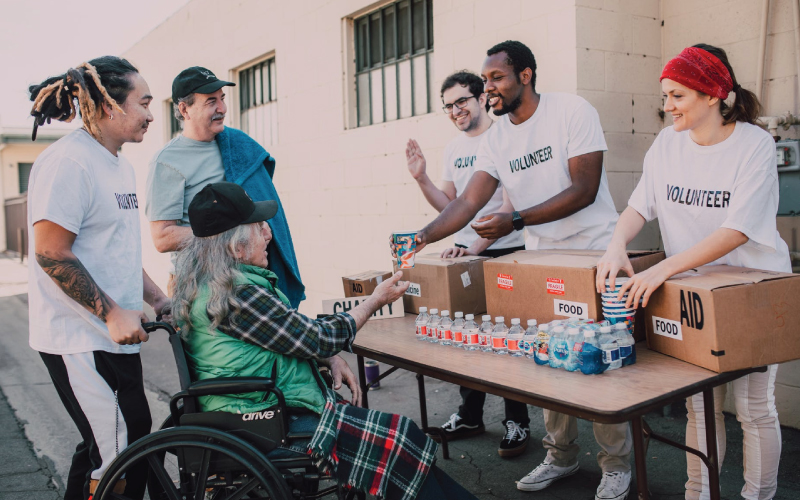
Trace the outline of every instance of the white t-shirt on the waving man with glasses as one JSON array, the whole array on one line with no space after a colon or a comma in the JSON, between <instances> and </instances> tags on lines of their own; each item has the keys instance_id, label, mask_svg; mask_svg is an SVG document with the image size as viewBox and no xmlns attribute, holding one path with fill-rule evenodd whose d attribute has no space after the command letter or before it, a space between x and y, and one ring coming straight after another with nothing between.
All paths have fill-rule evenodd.
<instances>
[{"instance_id":1,"label":"white t-shirt on the waving man with glasses","mask_svg":"<svg viewBox=\"0 0 800 500\"><path fill-rule=\"evenodd\" d=\"M444 171L442 172L442 180L450 181L455 184L456 196L461 196L469 180L472 179L472 174L475 173L475 158L481 144L481 137L483 137L484 134L477 137L469 137L467 134L463 133L459 134L458 137L447 143L447 146L444 148ZM501 183L497 186L497 191L494 192L489 202L478 212L470 224L484 215L497 213L502 206L503 185ZM469 247L478 238L478 233L467 224L455 234L453 239L457 245ZM525 239L522 237L522 232L513 231L511 234L503 236L495 241L489 249L500 250L503 248L521 247L524 244Z\"/></svg>"}]
</instances>

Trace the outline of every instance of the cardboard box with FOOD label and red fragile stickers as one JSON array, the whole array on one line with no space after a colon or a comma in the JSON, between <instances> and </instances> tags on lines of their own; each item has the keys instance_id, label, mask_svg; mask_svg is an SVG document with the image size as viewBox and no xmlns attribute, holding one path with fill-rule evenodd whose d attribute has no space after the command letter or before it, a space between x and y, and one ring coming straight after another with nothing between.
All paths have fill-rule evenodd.
<instances>
[{"instance_id":1,"label":"cardboard box with FOOD label and red fragile stickers","mask_svg":"<svg viewBox=\"0 0 800 500\"><path fill-rule=\"evenodd\" d=\"M535 319L603 319L595 288L599 250L522 250L484 262L486 308L506 322ZM635 272L664 260L664 252L628 252ZM634 335L644 340L642 321Z\"/></svg>"}]
</instances>

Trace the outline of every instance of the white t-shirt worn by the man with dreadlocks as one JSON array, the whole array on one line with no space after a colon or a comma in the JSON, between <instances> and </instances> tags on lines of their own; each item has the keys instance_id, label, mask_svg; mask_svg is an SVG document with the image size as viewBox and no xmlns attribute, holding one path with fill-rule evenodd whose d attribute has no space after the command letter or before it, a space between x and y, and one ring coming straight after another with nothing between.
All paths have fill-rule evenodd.
<instances>
[{"instance_id":1,"label":"white t-shirt worn by the man with dreadlocks","mask_svg":"<svg viewBox=\"0 0 800 500\"><path fill-rule=\"evenodd\" d=\"M72 251L97 285L124 309L142 310L139 202L131 164L83 129L48 147L28 185L30 346L50 354L136 353L111 340L106 325L68 297L36 261L33 224L75 233Z\"/></svg>"}]
</instances>

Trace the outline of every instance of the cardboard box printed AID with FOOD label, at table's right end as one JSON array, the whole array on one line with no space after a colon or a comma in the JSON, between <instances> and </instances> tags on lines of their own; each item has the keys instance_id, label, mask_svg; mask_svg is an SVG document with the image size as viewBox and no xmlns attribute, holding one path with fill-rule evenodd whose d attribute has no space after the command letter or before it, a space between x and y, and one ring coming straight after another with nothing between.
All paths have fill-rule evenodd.
<instances>
[{"instance_id":1,"label":"cardboard box printed AID with FOOD label, at table's right end","mask_svg":"<svg viewBox=\"0 0 800 500\"><path fill-rule=\"evenodd\" d=\"M798 306L800 275L703 266L650 297L647 344L715 372L798 359Z\"/></svg>"}]
</instances>

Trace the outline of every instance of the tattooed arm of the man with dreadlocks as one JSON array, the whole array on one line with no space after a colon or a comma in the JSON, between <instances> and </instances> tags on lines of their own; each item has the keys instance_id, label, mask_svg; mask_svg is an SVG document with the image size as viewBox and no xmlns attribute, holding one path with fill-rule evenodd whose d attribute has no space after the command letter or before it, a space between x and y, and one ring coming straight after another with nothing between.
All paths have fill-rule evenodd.
<instances>
[{"instance_id":1,"label":"tattooed arm of the man with dreadlocks","mask_svg":"<svg viewBox=\"0 0 800 500\"><path fill-rule=\"evenodd\" d=\"M72 253L74 233L48 220L37 222L33 230L36 262L67 296L108 326L111 340L118 344L147 341L148 335L141 326L147 316L142 311L121 308L95 283Z\"/></svg>"}]
</instances>

